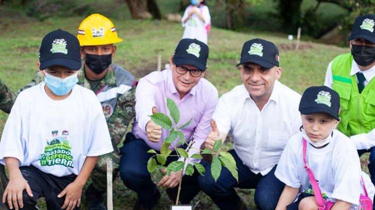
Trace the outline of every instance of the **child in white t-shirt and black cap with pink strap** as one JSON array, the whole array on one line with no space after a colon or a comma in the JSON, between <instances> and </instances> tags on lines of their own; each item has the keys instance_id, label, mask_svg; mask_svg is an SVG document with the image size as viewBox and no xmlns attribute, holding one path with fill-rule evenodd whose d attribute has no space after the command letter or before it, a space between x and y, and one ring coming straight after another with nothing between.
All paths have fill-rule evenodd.
<instances>
[{"instance_id":1,"label":"child in white t-shirt and black cap with pink strap","mask_svg":"<svg viewBox=\"0 0 375 210\"><path fill-rule=\"evenodd\" d=\"M299 105L303 124L301 132L289 139L275 172L276 177L285 183L277 210L318 208L304 168L303 138L308 142L307 164L322 197L335 202L332 209L357 209L359 195L363 193L361 175L372 199L374 186L369 176L361 172L354 144L334 129L340 120L339 108L340 97L329 87L312 86L303 93Z\"/></svg>"}]
</instances>

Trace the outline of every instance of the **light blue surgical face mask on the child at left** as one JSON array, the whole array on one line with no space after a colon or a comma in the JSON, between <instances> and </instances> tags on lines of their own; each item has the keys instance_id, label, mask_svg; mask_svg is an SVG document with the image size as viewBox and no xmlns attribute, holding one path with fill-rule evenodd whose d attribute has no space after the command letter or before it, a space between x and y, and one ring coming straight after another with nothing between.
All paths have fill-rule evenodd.
<instances>
[{"instance_id":1,"label":"light blue surgical face mask on the child at left","mask_svg":"<svg viewBox=\"0 0 375 210\"><path fill-rule=\"evenodd\" d=\"M74 85L78 82L77 73L70 75L64 79L48 74L44 71L46 76L44 77L44 82L47 84L48 88L56 95L66 95Z\"/></svg>"}]
</instances>

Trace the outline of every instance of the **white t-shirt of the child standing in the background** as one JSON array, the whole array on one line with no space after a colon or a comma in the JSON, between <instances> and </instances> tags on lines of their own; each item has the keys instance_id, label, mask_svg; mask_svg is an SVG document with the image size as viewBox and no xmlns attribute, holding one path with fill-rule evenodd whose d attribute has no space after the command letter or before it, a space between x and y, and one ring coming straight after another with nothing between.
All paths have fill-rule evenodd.
<instances>
[{"instance_id":1,"label":"white t-shirt of the child standing in the background","mask_svg":"<svg viewBox=\"0 0 375 210\"><path fill-rule=\"evenodd\" d=\"M184 15L181 18L182 26L185 27L182 38L196 38L207 44L208 33L206 30L206 25L211 24L211 16L208 7L204 4L201 4L198 7L204 21L202 21L196 14L193 14L190 19L184 23L184 20L188 17L188 13L192 7L193 5L187 6Z\"/></svg>"}]
</instances>

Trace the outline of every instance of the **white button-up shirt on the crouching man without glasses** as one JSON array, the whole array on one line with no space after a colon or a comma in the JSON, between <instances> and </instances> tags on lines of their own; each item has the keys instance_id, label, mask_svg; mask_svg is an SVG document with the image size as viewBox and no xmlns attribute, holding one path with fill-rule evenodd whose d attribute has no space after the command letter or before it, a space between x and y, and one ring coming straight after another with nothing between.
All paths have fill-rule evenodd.
<instances>
[{"instance_id":1,"label":"white button-up shirt on the crouching man without glasses","mask_svg":"<svg viewBox=\"0 0 375 210\"><path fill-rule=\"evenodd\" d=\"M261 111L241 84L219 98L212 118L220 133L233 133L234 150L243 164L254 173L266 175L302 125L300 99L299 93L276 80Z\"/></svg>"}]
</instances>

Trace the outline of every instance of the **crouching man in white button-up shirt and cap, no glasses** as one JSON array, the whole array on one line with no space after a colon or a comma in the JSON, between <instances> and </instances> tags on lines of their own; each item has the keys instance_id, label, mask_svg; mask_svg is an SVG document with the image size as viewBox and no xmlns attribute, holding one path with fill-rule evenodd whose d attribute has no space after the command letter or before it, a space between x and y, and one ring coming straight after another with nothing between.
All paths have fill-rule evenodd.
<instances>
[{"instance_id":1,"label":"crouching man in white button-up shirt and cap, no glasses","mask_svg":"<svg viewBox=\"0 0 375 210\"><path fill-rule=\"evenodd\" d=\"M210 163L203 160L206 172L199 176L199 185L220 209L247 209L234 187L255 188L258 209L275 209L284 183L274 173L289 137L302 124L301 95L278 81L279 50L270 41L246 41L238 65L243 84L219 98L205 141L212 148L215 140L233 134L234 149L229 152L236 161L238 182L224 167L215 182Z\"/></svg>"}]
</instances>

